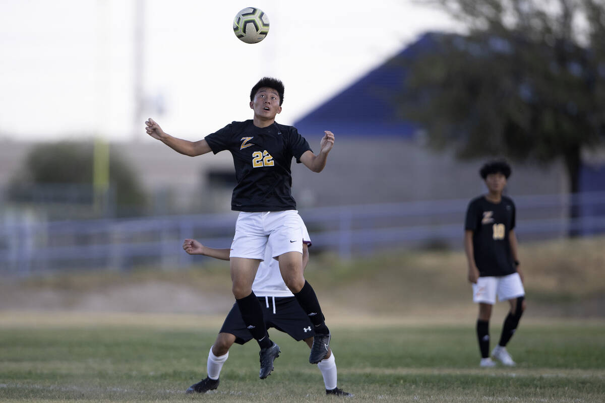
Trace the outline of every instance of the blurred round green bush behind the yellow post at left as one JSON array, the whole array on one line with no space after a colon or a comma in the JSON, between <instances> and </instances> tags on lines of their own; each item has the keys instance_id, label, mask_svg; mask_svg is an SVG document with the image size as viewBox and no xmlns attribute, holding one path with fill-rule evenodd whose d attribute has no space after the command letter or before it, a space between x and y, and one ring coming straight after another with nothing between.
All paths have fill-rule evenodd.
<instances>
[{"instance_id":1,"label":"blurred round green bush behind the yellow post at left","mask_svg":"<svg viewBox=\"0 0 605 403\"><path fill-rule=\"evenodd\" d=\"M12 199L27 198L37 185L92 185L93 144L64 141L34 146L19 174L11 180ZM145 192L132 169L112 150L110 153L110 184L116 192L117 213L137 214L146 206Z\"/></svg>"}]
</instances>

